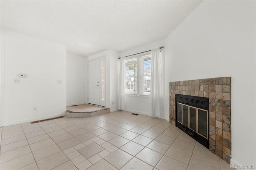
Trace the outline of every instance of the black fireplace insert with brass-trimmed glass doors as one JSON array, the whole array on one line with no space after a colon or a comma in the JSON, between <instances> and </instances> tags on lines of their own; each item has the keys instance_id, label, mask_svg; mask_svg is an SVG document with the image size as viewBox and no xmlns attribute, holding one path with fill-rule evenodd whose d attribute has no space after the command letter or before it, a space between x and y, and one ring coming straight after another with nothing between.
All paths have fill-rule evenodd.
<instances>
[{"instance_id":1,"label":"black fireplace insert with brass-trimmed glass doors","mask_svg":"<svg viewBox=\"0 0 256 170\"><path fill-rule=\"evenodd\" d=\"M209 148L209 98L176 94L176 127Z\"/></svg>"}]
</instances>

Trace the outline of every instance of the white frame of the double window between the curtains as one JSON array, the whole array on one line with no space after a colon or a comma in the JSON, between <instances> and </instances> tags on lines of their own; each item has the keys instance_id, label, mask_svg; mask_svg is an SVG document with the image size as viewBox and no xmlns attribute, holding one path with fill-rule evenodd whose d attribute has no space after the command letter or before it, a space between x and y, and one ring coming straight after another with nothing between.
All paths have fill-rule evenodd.
<instances>
[{"instance_id":1,"label":"white frame of the double window between the curtains","mask_svg":"<svg viewBox=\"0 0 256 170\"><path fill-rule=\"evenodd\" d=\"M140 79L141 75L140 75L140 70L141 70L141 66L144 66L144 64L142 65L142 57L146 56L146 55L150 55L150 60L151 60L151 52L144 52L144 53L140 53L140 54L136 54L136 55L131 55L129 57L126 57L125 63L127 60L130 59L137 59L137 75L136 75L136 93L126 93L126 89L125 89L125 93L124 95L126 96L140 96L140 97L150 97L151 96L151 91L149 94L140 94L141 91L141 84L144 88L144 85L142 83L143 80ZM126 76L126 68L125 68L125 76ZM143 75L142 77L144 78L145 75ZM126 77L124 78L126 80ZM126 84L126 82L125 82ZM150 72L150 87L151 87L151 72Z\"/></svg>"}]
</instances>

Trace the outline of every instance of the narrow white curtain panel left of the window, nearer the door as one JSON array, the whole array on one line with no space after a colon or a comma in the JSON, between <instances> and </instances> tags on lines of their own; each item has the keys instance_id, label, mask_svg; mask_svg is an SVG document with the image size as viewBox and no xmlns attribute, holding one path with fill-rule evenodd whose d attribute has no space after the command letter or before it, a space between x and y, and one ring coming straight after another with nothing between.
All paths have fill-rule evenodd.
<instances>
[{"instance_id":1,"label":"narrow white curtain panel left of the window, nearer the door","mask_svg":"<svg viewBox=\"0 0 256 170\"><path fill-rule=\"evenodd\" d=\"M118 85L118 109L124 109L124 93L125 93L125 60L124 57L120 61L119 85Z\"/></svg>"}]
</instances>

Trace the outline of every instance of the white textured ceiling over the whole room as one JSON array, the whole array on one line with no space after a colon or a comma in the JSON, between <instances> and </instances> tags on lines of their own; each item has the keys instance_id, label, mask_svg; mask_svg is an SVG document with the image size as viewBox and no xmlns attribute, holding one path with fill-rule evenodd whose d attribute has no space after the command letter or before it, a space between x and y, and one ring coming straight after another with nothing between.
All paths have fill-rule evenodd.
<instances>
[{"instance_id":1,"label":"white textured ceiling over the whole room","mask_svg":"<svg viewBox=\"0 0 256 170\"><path fill-rule=\"evenodd\" d=\"M1 27L89 56L166 38L201 1L1 0Z\"/></svg>"}]
</instances>

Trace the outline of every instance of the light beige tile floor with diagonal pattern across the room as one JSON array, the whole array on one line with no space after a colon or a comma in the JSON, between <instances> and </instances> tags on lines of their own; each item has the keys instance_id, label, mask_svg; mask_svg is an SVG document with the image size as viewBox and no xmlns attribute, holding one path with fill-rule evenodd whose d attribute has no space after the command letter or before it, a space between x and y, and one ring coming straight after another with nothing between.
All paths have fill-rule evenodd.
<instances>
[{"instance_id":1,"label":"light beige tile floor with diagonal pattern across the room","mask_svg":"<svg viewBox=\"0 0 256 170\"><path fill-rule=\"evenodd\" d=\"M0 128L1 170L226 170L168 121L116 111Z\"/></svg>"}]
</instances>

